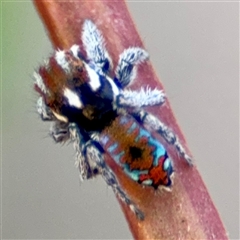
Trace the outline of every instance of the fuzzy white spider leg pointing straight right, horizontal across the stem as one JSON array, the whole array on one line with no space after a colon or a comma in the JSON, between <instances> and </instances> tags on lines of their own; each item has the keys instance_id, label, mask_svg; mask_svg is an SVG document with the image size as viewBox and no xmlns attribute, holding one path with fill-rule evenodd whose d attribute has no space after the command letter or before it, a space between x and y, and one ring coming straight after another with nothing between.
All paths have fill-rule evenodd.
<instances>
[{"instance_id":1,"label":"fuzzy white spider leg pointing straight right, horizontal across the stem","mask_svg":"<svg viewBox=\"0 0 240 240\"><path fill-rule=\"evenodd\" d=\"M161 105L165 102L163 91L150 88L141 88L140 91L124 90L117 96L117 106L135 107Z\"/></svg>"}]
</instances>

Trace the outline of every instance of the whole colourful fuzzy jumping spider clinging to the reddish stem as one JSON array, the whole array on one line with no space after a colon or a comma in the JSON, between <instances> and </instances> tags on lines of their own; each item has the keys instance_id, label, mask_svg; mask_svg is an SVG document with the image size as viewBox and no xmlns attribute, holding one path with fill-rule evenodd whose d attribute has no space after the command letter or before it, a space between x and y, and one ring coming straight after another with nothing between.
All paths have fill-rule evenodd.
<instances>
[{"instance_id":1,"label":"whole colourful fuzzy jumping spider clinging to the reddish stem","mask_svg":"<svg viewBox=\"0 0 240 240\"><path fill-rule=\"evenodd\" d=\"M165 95L149 88L125 89L136 76L136 66L148 59L145 50L131 47L119 56L115 77L108 75L112 61L95 24L85 20L82 42L58 50L34 73L40 94L37 109L43 120L53 121L50 133L56 142L74 141L77 166L82 179L101 174L139 219L144 214L121 189L104 161L112 156L124 173L139 184L171 187L172 162L163 145L146 129L158 132L191 164L175 134L158 118L143 110L161 105Z\"/></svg>"}]
</instances>

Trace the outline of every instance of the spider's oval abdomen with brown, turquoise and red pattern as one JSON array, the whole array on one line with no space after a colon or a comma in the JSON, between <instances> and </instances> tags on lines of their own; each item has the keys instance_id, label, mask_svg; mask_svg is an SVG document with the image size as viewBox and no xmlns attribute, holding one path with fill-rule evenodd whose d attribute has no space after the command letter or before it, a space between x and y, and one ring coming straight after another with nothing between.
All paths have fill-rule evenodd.
<instances>
[{"instance_id":1,"label":"spider's oval abdomen with brown, turquoise and red pattern","mask_svg":"<svg viewBox=\"0 0 240 240\"><path fill-rule=\"evenodd\" d=\"M171 160L163 145L130 115L119 115L100 134L100 144L134 181L170 187Z\"/></svg>"}]
</instances>

